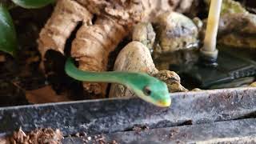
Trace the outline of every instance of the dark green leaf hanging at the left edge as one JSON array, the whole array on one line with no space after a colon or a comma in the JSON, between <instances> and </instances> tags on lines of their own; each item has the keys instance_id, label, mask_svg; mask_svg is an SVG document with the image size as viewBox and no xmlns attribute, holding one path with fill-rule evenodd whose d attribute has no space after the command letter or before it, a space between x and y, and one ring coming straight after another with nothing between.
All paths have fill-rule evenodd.
<instances>
[{"instance_id":1,"label":"dark green leaf hanging at the left edge","mask_svg":"<svg viewBox=\"0 0 256 144\"><path fill-rule=\"evenodd\" d=\"M0 50L14 55L18 48L16 31L9 11L0 5Z\"/></svg>"}]
</instances>

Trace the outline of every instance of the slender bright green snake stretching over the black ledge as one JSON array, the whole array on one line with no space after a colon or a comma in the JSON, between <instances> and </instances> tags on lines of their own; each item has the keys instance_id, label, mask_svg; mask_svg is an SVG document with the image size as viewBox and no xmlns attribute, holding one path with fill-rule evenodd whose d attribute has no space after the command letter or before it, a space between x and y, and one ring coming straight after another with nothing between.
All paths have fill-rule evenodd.
<instances>
[{"instance_id":1,"label":"slender bright green snake stretching over the black ledge","mask_svg":"<svg viewBox=\"0 0 256 144\"><path fill-rule=\"evenodd\" d=\"M65 65L66 74L78 81L118 83L133 90L139 98L155 106L170 106L171 98L165 82L148 74L125 71L90 72L79 70L74 60L68 58Z\"/></svg>"}]
</instances>

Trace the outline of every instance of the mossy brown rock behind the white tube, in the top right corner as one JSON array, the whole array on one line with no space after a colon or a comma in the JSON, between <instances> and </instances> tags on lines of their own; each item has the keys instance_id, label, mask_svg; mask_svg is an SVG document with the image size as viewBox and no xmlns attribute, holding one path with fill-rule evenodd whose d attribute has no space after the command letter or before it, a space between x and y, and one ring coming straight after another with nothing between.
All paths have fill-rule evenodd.
<instances>
[{"instance_id":1,"label":"mossy brown rock behind the white tube, in the top right corner","mask_svg":"<svg viewBox=\"0 0 256 144\"><path fill-rule=\"evenodd\" d=\"M210 0L205 0L210 4ZM209 6L208 6L209 7ZM202 29L204 37L206 22ZM256 15L250 14L239 3L233 0L223 0L222 14L218 26L218 44L239 47L256 48Z\"/></svg>"}]
</instances>

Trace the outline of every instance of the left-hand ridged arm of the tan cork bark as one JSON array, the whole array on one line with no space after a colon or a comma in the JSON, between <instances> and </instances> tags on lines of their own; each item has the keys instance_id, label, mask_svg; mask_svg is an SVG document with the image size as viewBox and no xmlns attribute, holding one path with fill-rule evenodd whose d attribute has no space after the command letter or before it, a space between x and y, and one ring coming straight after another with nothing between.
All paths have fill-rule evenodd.
<instances>
[{"instance_id":1,"label":"left-hand ridged arm of the tan cork bark","mask_svg":"<svg viewBox=\"0 0 256 144\"><path fill-rule=\"evenodd\" d=\"M90 22L92 14L78 2L58 0L50 19L41 30L38 38L38 50L44 58L47 50L56 50L64 54L66 39L78 25L78 22Z\"/></svg>"}]
</instances>

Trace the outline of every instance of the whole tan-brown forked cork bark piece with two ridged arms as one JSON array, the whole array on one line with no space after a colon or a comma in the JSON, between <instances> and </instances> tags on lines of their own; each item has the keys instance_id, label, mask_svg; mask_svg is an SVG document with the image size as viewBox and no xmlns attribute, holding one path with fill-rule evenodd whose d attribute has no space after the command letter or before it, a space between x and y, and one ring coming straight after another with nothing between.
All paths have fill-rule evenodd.
<instances>
[{"instance_id":1,"label":"whole tan-brown forked cork bark piece with two ridged arms","mask_svg":"<svg viewBox=\"0 0 256 144\"><path fill-rule=\"evenodd\" d=\"M71 56L78 61L81 70L105 71L110 52L130 33L131 27L173 10L172 1L58 0L39 34L38 50L42 59L50 49L64 54L66 39L82 22L72 42ZM84 82L84 88L93 94L106 94L106 84Z\"/></svg>"}]
</instances>

